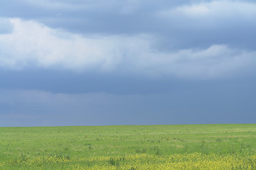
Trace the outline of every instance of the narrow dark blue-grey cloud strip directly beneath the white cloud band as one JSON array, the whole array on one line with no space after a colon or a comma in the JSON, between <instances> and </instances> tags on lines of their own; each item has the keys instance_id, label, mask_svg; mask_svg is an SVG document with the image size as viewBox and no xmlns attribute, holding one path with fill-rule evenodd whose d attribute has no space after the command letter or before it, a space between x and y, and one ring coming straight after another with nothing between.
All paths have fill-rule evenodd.
<instances>
[{"instance_id":1,"label":"narrow dark blue-grey cloud strip directly beneath the white cloud band","mask_svg":"<svg viewBox=\"0 0 256 170\"><path fill-rule=\"evenodd\" d=\"M141 77L139 75L124 76L120 74L75 73L63 70L26 69L10 71L0 69L0 89L22 89L49 91L53 94L87 94L105 93L114 95L162 94L186 91L200 93L202 89L214 91L237 91L247 89L254 93L256 86L254 74L246 77L236 74L233 79L193 80L193 79L161 79ZM224 90L225 89L225 90ZM205 90L206 91L206 90ZM225 94L225 93L224 93Z\"/></svg>"}]
</instances>

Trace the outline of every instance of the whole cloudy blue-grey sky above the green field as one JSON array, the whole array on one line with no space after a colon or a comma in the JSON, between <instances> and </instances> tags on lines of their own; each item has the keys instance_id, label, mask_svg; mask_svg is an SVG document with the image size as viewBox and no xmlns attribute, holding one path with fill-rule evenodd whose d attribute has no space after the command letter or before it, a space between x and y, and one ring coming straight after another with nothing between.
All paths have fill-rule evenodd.
<instances>
[{"instance_id":1,"label":"whole cloudy blue-grey sky above the green field","mask_svg":"<svg viewBox=\"0 0 256 170\"><path fill-rule=\"evenodd\" d=\"M0 2L0 126L255 123L253 0Z\"/></svg>"}]
</instances>

